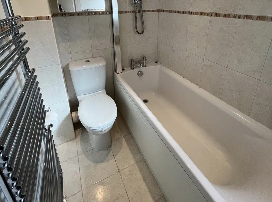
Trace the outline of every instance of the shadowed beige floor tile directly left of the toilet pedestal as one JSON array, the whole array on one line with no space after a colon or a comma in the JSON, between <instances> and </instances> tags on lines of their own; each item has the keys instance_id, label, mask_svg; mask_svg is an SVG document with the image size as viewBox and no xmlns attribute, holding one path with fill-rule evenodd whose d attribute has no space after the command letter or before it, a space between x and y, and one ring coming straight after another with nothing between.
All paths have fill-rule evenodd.
<instances>
[{"instance_id":1,"label":"shadowed beige floor tile directly left of the toilet pedestal","mask_svg":"<svg viewBox=\"0 0 272 202\"><path fill-rule=\"evenodd\" d=\"M93 149L86 128L76 131L76 146L78 155Z\"/></svg>"}]
</instances>

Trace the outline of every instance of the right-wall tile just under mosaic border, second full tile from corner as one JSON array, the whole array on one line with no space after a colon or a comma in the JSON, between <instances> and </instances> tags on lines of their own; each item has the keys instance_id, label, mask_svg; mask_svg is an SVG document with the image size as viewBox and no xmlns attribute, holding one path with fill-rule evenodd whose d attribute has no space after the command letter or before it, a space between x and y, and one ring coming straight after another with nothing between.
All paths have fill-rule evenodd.
<instances>
[{"instance_id":1,"label":"right-wall tile just under mosaic border, second full tile from corner","mask_svg":"<svg viewBox=\"0 0 272 202\"><path fill-rule=\"evenodd\" d=\"M175 14L173 47L186 51L190 15Z\"/></svg>"}]
</instances>

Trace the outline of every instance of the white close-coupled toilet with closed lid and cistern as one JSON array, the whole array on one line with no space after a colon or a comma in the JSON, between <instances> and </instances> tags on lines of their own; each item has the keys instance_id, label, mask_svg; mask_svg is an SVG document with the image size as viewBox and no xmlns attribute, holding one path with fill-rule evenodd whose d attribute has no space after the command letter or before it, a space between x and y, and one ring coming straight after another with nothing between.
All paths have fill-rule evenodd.
<instances>
[{"instance_id":1,"label":"white close-coupled toilet with closed lid and cistern","mask_svg":"<svg viewBox=\"0 0 272 202\"><path fill-rule=\"evenodd\" d=\"M105 91L106 61L102 57L77 60L69 63L69 70L79 101L79 120L89 132L92 147L106 150L117 116L116 104Z\"/></svg>"}]
</instances>

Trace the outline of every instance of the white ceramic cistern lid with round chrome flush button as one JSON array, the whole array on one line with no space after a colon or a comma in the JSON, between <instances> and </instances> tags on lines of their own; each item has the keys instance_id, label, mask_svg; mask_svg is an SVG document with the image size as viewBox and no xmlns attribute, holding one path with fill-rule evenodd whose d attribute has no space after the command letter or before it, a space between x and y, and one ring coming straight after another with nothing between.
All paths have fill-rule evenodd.
<instances>
[{"instance_id":1,"label":"white ceramic cistern lid with round chrome flush button","mask_svg":"<svg viewBox=\"0 0 272 202\"><path fill-rule=\"evenodd\" d=\"M69 70L70 71L79 71L85 69L96 68L100 66L106 65L106 61L102 57L98 58L87 58L83 60L76 60L73 62L69 62Z\"/></svg>"}]
</instances>

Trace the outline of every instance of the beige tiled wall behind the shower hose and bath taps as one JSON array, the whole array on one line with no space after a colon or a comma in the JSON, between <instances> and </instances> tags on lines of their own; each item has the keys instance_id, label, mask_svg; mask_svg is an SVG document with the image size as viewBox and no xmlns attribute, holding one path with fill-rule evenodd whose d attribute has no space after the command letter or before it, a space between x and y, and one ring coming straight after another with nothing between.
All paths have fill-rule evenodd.
<instances>
[{"instance_id":1,"label":"beige tiled wall behind the shower hose and bath taps","mask_svg":"<svg viewBox=\"0 0 272 202\"><path fill-rule=\"evenodd\" d=\"M159 8L158 0L144 0L143 10ZM118 11L134 11L132 0L118 0ZM158 12L144 13L144 34L135 31L135 13L119 14L121 59L124 68L131 66L130 59L141 60L146 56L147 62L157 61ZM138 13L138 31L142 31L141 14Z\"/></svg>"}]
</instances>

